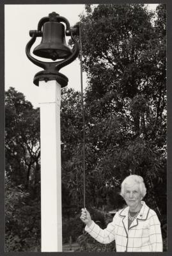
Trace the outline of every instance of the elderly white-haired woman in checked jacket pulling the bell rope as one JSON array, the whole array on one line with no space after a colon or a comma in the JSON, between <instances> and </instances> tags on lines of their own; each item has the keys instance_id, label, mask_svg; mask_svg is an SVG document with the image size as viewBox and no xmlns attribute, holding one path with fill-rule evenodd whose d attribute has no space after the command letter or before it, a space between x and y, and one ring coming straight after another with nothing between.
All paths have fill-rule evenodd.
<instances>
[{"instance_id":1,"label":"elderly white-haired woman in checked jacket pulling the bell rope","mask_svg":"<svg viewBox=\"0 0 172 256\"><path fill-rule=\"evenodd\" d=\"M121 184L121 196L128 206L118 211L104 230L82 209L86 232L103 244L115 240L116 252L162 252L160 222L155 211L141 201L145 195L143 178L128 176Z\"/></svg>"}]
</instances>

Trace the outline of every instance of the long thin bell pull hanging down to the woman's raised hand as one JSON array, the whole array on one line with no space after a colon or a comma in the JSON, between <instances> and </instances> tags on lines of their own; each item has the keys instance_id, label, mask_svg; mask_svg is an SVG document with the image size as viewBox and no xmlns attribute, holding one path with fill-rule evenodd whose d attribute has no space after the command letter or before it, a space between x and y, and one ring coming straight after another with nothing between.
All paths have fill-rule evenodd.
<instances>
[{"instance_id":1,"label":"long thin bell pull hanging down to the woman's raised hand","mask_svg":"<svg viewBox=\"0 0 172 256\"><path fill-rule=\"evenodd\" d=\"M86 180L85 180L85 110L84 110L84 93L82 83L82 40L81 25L79 25L79 44L80 44L80 67L81 67L81 101L82 101L82 122L83 122L83 184L84 184L84 208L86 207Z\"/></svg>"}]
</instances>

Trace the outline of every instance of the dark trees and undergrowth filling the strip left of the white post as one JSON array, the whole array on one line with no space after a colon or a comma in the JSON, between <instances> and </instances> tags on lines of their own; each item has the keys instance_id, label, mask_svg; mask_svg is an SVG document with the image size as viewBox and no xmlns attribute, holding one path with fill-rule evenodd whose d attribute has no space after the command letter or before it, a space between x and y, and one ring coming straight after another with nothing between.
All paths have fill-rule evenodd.
<instances>
[{"instance_id":1,"label":"dark trees and undergrowth filling the strip left of the white post","mask_svg":"<svg viewBox=\"0 0 172 256\"><path fill-rule=\"evenodd\" d=\"M5 93L6 252L40 251L40 118L10 87Z\"/></svg>"}]
</instances>

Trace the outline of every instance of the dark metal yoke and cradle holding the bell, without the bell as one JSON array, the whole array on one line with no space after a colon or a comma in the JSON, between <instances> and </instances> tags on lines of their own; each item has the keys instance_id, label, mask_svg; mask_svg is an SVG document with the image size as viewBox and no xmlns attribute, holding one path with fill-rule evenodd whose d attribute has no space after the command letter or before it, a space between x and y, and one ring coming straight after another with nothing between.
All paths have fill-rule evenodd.
<instances>
[{"instance_id":1,"label":"dark metal yoke and cradle holding the bell, without the bell","mask_svg":"<svg viewBox=\"0 0 172 256\"><path fill-rule=\"evenodd\" d=\"M68 56L65 60L61 61L40 61L31 56L31 47L35 43L36 38L42 36L42 26L47 21L56 21L56 22L64 22L66 24L66 36L71 36L72 41L74 42L74 48L72 49L72 55ZM49 17L43 17L38 22L37 30L30 30L29 36L31 36L31 40L26 45L26 55L27 58L33 62L38 67L43 68L44 70L35 74L33 79L33 83L36 86L39 86L39 81L50 81L56 80L59 84L61 84L61 88L65 87L68 84L68 78L61 74L59 70L66 65L72 63L72 61L77 58L79 54L79 42L75 39L75 35L79 35L79 26L74 26L74 28L70 28L70 23L65 17L59 16L58 13L52 12L49 13Z\"/></svg>"}]
</instances>

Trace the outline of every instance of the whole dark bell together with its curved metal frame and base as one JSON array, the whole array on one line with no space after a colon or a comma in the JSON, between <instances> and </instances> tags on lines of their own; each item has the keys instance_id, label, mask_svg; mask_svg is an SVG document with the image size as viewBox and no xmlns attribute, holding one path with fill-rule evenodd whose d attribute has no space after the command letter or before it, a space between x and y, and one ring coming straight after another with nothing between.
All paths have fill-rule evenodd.
<instances>
[{"instance_id":1,"label":"whole dark bell together with its curved metal frame and base","mask_svg":"<svg viewBox=\"0 0 172 256\"><path fill-rule=\"evenodd\" d=\"M60 22L66 24L66 33L65 26ZM70 49L66 45L65 34L66 36L71 36L72 41L74 42L74 49ZM74 35L79 35L79 27L75 26L74 28L70 28L70 24L65 17L61 17L58 13L52 12L49 13L49 17L43 17L38 22L38 29L30 30L29 35L31 36L31 40L29 40L26 45L27 58L38 67L44 69L35 74L33 83L38 86L39 81L56 80L61 84L62 88L65 87L68 84L68 78L59 73L59 69L70 64L79 54L79 42L77 42L74 37ZM33 50L33 54L51 60L63 60L44 62L36 60L31 56L31 47L35 43L36 37L40 36L42 36L42 42Z\"/></svg>"}]
</instances>

